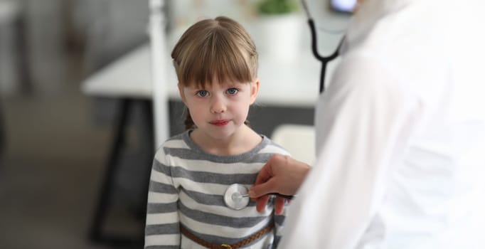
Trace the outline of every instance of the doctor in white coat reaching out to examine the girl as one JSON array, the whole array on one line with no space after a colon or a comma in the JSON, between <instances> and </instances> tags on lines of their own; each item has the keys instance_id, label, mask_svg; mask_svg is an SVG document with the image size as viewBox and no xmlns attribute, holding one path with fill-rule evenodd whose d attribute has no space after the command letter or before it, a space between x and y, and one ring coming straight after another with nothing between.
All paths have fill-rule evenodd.
<instances>
[{"instance_id":1,"label":"doctor in white coat reaching out to examine the girl","mask_svg":"<svg viewBox=\"0 0 485 249\"><path fill-rule=\"evenodd\" d=\"M297 196L279 248L485 248L483 5L361 1L314 166L272 157L250 189Z\"/></svg>"}]
</instances>

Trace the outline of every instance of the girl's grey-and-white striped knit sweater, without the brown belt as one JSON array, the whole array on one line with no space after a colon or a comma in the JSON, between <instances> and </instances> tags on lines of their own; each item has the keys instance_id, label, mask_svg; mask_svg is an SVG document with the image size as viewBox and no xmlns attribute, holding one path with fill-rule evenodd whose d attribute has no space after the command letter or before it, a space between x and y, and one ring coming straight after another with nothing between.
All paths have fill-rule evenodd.
<instances>
[{"instance_id":1,"label":"girl's grey-and-white striped knit sweater, without the brown belt","mask_svg":"<svg viewBox=\"0 0 485 249\"><path fill-rule=\"evenodd\" d=\"M203 248L180 233L180 226L209 243L238 243L274 222L275 229L244 248L276 248L284 214L273 206L264 213L250 201L242 210L225 206L231 184L254 184L257 172L272 154L288 154L263 136L250 152L231 156L208 154L184 132L156 152L146 213L145 248ZM286 208L285 208L286 209Z\"/></svg>"}]
</instances>

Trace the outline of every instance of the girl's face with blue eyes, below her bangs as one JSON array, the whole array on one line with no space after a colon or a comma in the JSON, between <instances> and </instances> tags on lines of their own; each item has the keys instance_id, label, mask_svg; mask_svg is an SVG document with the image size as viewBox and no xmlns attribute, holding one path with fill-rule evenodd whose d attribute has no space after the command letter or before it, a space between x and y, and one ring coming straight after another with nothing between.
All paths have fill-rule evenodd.
<instances>
[{"instance_id":1,"label":"girl's face with blue eyes, below her bangs","mask_svg":"<svg viewBox=\"0 0 485 249\"><path fill-rule=\"evenodd\" d=\"M244 124L256 100L260 82L214 82L205 88L178 84L181 98L201 132L214 139L227 139Z\"/></svg>"}]
</instances>

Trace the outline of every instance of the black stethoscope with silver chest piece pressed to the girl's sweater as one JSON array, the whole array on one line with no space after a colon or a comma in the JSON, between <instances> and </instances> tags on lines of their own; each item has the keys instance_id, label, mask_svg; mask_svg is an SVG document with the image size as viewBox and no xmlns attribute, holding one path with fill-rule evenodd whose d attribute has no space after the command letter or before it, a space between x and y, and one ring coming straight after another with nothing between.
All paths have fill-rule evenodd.
<instances>
[{"instance_id":1,"label":"black stethoscope with silver chest piece pressed to the girl's sweater","mask_svg":"<svg viewBox=\"0 0 485 249\"><path fill-rule=\"evenodd\" d=\"M310 26L310 31L311 31L311 51L313 52L315 58L317 60L320 60L321 62L321 73L320 73L320 93L324 92L325 90L325 73L326 73L326 65L331 61L337 58L339 56L339 50L342 46L343 43L343 38L341 39L339 46L336 48L334 53L332 53L329 56L321 56L319 54L319 51L317 49L317 43L316 43L316 29L315 29L315 23L313 19L310 16L310 12L307 7L307 2L302 0L302 5L305 13L307 14L308 18L308 25ZM224 203L228 208L232 208L234 210L241 210L242 208L245 208L250 201L249 195L247 194L247 187L242 185L242 184L232 184L226 189L224 193ZM292 199L293 196L285 196L283 194L279 193L271 193L271 195L274 196L279 196L287 199Z\"/></svg>"}]
</instances>

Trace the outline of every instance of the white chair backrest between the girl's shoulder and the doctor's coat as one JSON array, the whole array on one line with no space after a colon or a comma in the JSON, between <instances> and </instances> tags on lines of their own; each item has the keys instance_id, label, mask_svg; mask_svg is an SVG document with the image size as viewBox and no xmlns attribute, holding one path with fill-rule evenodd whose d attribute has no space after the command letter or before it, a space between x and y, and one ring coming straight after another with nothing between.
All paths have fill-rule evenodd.
<instances>
[{"instance_id":1,"label":"white chair backrest between the girl's shoulder and the doctor's coat","mask_svg":"<svg viewBox=\"0 0 485 249\"><path fill-rule=\"evenodd\" d=\"M315 129L311 125L281 124L271 135L294 159L313 165L315 161Z\"/></svg>"}]
</instances>

